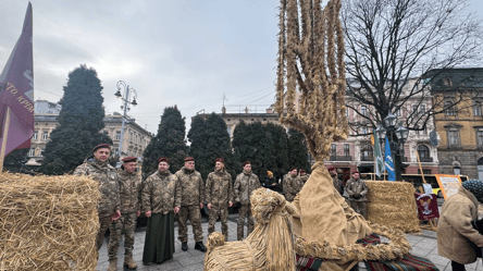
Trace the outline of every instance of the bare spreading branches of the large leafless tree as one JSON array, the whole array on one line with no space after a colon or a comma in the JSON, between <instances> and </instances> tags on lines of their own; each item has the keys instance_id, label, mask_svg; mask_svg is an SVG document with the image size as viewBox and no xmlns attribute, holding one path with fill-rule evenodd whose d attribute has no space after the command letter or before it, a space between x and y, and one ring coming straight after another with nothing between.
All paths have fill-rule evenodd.
<instances>
[{"instance_id":1,"label":"bare spreading branches of the large leafless tree","mask_svg":"<svg viewBox=\"0 0 483 271\"><path fill-rule=\"evenodd\" d=\"M468 98L461 94L451 104L441 104L442 99L433 99L434 94L429 91L439 78L434 71L481 60L481 21L467 12L467 0L343 2L350 97L347 107L364 120L350 123L354 131L358 126L375 127L411 99L416 106L429 99L437 101L424 112L408 111L404 119L409 130L424 130L432 115ZM357 104L370 110L364 114Z\"/></svg>"}]
</instances>

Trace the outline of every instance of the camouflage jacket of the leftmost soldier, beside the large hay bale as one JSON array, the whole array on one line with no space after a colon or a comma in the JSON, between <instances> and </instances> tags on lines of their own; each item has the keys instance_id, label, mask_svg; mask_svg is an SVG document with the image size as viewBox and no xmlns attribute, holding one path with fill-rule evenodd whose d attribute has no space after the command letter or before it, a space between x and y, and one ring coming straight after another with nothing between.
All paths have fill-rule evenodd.
<instances>
[{"instance_id":1,"label":"camouflage jacket of the leftmost soldier, beside the large hay bale","mask_svg":"<svg viewBox=\"0 0 483 271\"><path fill-rule=\"evenodd\" d=\"M100 163L94 158L84 160L77 167L74 175L91 176L99 183L101 198L97 206L97 211L101 215L110 215L115 210L120 210L119 178L116 170L109 163Z\"/></svg>"}]
</instances>

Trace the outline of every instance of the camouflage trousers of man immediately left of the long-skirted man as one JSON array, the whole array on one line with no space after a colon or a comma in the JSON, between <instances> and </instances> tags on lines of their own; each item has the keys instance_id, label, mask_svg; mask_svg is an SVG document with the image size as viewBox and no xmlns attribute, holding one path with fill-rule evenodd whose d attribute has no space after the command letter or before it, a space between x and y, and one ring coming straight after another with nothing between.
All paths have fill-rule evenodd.
<instances>
[{"instance_id":1,"label":"camouflage trousers of man immediately left of the long-skirted man","mask_svg":"<svg viewBox=\"0 0 483 271\"><path fill-rule=\"evenodd\" d=\"M131 255L133 252L136 218L136 213L122 213L121 218L109 224L109 231L111 232L108 244L109 260L115 260L117 257L119 242L121 241L123 227L125 248L124 255Z\"/></svg>"}]
</instances>

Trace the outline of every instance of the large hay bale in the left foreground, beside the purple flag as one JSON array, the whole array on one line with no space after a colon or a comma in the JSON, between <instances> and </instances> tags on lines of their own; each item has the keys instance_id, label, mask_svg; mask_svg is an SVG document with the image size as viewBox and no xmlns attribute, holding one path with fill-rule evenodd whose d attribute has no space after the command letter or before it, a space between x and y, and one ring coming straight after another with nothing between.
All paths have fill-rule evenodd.
<instances>
[{"instance_id":1,"label":"large hay bale in the left foreground, beside the purple flag","mask_svg":"<svg viewBox=\"0 0 483 271\"><path fill-rule=\"evenodd\" d=\"M98 183L0 173L2 270L95 270Z\"/></svg>"}]
</instances>

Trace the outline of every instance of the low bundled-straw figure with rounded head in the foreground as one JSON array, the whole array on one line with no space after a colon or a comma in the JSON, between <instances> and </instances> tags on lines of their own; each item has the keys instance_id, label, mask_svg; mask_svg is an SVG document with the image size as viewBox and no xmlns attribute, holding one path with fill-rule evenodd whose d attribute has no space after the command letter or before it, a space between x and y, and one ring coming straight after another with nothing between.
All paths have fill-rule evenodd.
<instances>
[{"instance_id":1,"label":"low bundled-straw figure with rounded head in the foreground","mask_svg":"<svg viewBox=\"0 0 483 271\"><path fill-rule=\"evenodd\" d=\"M223 234L210 234L205 270L295 270L295 207L268 188L255 190L250 202L257 219L253 231L244 241L226 243Z\"/></svg>"}]
</instances>

